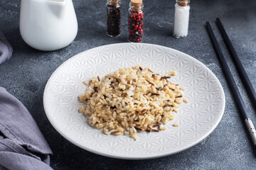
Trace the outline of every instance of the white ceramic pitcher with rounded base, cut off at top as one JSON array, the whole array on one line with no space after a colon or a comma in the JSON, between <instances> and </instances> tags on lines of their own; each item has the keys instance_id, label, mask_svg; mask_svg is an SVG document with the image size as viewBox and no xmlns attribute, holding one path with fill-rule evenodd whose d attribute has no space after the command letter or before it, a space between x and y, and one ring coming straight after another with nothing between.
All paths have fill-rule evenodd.
<instances>
[{"instance_id":1,"label":"white ceramic pitcher with rounded base, cut off at top","mask_svg":"<svg viewBox=\"0 0 256 170\"><path fill-rule=\"evenodd\" d=\"M21 0L20 32L38 50L66 47L78 33L72 0Z\"/></svg>"}]
</instances>

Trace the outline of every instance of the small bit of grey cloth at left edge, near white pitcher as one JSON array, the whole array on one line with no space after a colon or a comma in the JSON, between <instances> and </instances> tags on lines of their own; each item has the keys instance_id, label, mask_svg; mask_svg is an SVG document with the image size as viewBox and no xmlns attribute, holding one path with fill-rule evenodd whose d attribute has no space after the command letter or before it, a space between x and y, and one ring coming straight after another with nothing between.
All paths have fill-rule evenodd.
<instances>
[{"instance_id":1,"label":"small bit of grey cloth at left edge, near white pitcher","mask_svg":"<svg viewBox=\"0 0 256 170\"><path fill-rule=\"evenodd\" d=\"M0 64L11 58L13 49L0 30Z\"/></svg>"}]
</instances>

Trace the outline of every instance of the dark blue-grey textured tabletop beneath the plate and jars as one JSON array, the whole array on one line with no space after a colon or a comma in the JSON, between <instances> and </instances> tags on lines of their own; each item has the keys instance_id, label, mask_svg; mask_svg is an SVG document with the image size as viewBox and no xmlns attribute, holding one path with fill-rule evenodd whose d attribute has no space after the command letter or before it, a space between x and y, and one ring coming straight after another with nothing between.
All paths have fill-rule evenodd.
<instances>
[{"instance_id":1,"label":"dark blue-grey textured tabletop beneath the plate and jars","mask_svg":"<svg viewBox=\"0 0 256 170\"><path fill-rule=\"evenodd\" d=\"M26 0L23 0L26 1ZM204 23L210 21L223 49L235 81L242 93L252 121L255 108L238 77L214 19L220 17L230 35L238 56L256 89L256 1L191 1L188 37L171 36L175 1L144 0L143 42L172 47L206 64L223 85L226 107L218 127L198 145L169 157L149 160L121 160L92 154L65 140L50 125L43 111L43 89L50 74L73 55L100 45L127 42L128 1L122 1L122 34L117 38L106 35L106 1L74 0L78 17L78 36L62 50L41 52L28 47L18 30L20 1L0 1L0 26L14 47L11 60L0 64L0 86L16 96L30 111L45 135L54 155L53 169L255 169L256 159L245 125L230 94L220 64L206 33Z\"/></svg>"}]
</instances>

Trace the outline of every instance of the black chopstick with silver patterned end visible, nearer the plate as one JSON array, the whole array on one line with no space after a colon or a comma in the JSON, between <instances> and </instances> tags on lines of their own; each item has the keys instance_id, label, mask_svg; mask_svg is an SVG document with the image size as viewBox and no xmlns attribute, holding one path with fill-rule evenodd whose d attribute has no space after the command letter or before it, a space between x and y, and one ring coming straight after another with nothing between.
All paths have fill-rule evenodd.
<instances>
[{"instance_id":1,"label":"black chopstick with silver patterned end visible, nearer the plate","mask_svg":"<svg viewBox=\"0 0 256 170\"><path fill-rule=\"evenodd\" d=\"M228 79L228 84L230 86L230 89L233 92L233 95L235 96L235 101L238 104L238 108L239 108L240 112L242 113L242 116L245 118L245 124L247 126L247 130L249 130L249 132L250 132L252 142L256 146L256 130L254 128L254 125L252 124L252 120L250 120L249 115L247 114L245 103L242 101L242 97L240 95L240 92L238 91L238 86L236 86L236 84L235 84L235 80L233 79L230 69L228 68L228 64L225 61L223 52L220 50L220 45L218 44L218 42L215 38L215 35L213 33L212 28L210 27L209 22L206 22L206 29L208 31L210 40L213 43L215 52L217 53L217 56L220 60L220 64L223 67L225 77Z\"/></svg>"}]
</instances>

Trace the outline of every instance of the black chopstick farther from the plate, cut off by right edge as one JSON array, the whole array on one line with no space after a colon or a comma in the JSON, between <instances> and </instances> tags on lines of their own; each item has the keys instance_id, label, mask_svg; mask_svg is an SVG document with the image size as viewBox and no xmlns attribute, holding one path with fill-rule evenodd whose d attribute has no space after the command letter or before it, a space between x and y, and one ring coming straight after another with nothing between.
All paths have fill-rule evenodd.
<instances>
[{"instance_id":1,"label":"black chopstick farther from the plate, cut off by right edge","mask_svg":"<svg viewBox=\"0 0 256 170\"><path fill-rule=\"evenodd\" d=\"M231 43L230 39L228 38L228 34L225 31L225 28L223 27L223 24L220 21L220 18L216 18L216 23L218 26L218 29L220 30L220 33L223 37L223 40L225 41L228 50L230 51L230 55L233 59L233 62L235 63L235 67L238 69L238 74L240 76L240 79L242 79L245 89L247 90L248 96L250 96L250 99L252 101L252 104L256 106L256 93L255 90L252 87L252 83L250 82L250 79L248 78L244 67L242 67L242 63L239 60L239 57L237 53L235 52L235 48L233 47L233 44Z\"/></svg>"}]
</instances>

